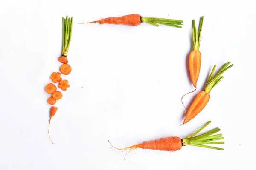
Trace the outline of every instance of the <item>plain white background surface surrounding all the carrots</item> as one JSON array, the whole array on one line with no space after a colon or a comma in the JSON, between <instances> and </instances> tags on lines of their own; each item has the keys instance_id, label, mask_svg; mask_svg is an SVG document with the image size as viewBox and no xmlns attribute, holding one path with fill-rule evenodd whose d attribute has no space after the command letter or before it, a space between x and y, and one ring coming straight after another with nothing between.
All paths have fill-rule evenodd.
<instances>
[{"instance_id":1,"label":"plain white background surface surrounding all the carrots","mask_svg":"<svg viewBox=\"0 0 256 170\"><path fill-rule=\"evenodd\" d=\"M256 12L243 0L15 0L0 5L0 170L240 170L254 166ZM140 14L183 20L182 28L73 24L70 81L47 130L44 91L58 71L62 17L89 22ZM207 107L180 126L180 98L194 88L187 57L192 20L204 16L198 90L214 64L234 66L211 91ZM83 87L83 88L81 88ZM221 128L224 151L186 146L177 152L128 147L167 136L184 138L207 121Z\"/></svg>"}]
</instances>

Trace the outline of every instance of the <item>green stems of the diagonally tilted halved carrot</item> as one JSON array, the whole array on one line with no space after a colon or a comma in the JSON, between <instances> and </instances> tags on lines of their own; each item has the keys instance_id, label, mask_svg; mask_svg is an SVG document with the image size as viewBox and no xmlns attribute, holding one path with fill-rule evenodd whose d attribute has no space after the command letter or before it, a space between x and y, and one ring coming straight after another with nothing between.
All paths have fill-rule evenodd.
<instances>
[{"instance_id":1,"label":"green stems of the diagonally tilted halved carrot","mask_svg":"<svg viewBox=\"0 0 256 170\"><path fill-rule=\"evenodd\" d=\"M215 68L217 66L217 65L214 65L214 67L212 68L212 72L209 76L209 79L207 80L207 83L206 83L206 87L205 87L206 93L209 93L212 90L212 88L214 88L215 85L217 85L224 78L223 76L221 76L221 74L223 74L225 71L227 71L227 69L233 66L233 64L228 66L229 64L230 62L225 63L220 69L220 71L218 71L218 73L215 75L215 77L212 78L213 72L215 71Z\"/></svg>"}]
</instances>

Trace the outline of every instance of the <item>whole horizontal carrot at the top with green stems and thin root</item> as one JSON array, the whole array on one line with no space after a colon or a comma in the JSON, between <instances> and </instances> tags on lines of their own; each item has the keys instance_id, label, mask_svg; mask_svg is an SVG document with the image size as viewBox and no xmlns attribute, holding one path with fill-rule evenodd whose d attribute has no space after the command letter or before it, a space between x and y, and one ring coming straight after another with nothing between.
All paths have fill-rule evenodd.
<instances>
[{"instance_id":1,"label":"whole horizontal carrot at the top with green stems and thin root","mask_svg":"<svg viewBox=\"0 0 256 170\"><path fill-rule=\"evenodd\" d=\"M183 20L172 20L165 18L153 18L153 17L142 17L139 14L129 14L122 17L108 17L102 20L97 20L89 23L100 23L100 24L122 24L127 26L138 26L141 23L150 23L154 26L159 26L158 24L163 24L167 26L174 26L181 28ZM158 24L157 24L158 23ZM84 23L79 23L84 24Z\"/></svg>"}]
</instances>

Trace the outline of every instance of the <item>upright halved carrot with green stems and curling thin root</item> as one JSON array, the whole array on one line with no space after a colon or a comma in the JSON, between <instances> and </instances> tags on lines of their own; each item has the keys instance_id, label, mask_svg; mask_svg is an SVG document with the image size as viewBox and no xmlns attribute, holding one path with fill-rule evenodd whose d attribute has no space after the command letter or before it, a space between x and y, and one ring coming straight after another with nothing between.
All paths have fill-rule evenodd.
<instances>
[{"instance_id":1,"label":"upright halved carrot with green stems and curling thin root","mask_svg":"<svg viewBox=\"0 0 256 170\"><path fill-rule=\"evenodd\" d=\"M200 20L200 26L197 31L195 26L195 20L193 20L192 37L193 37L194 48L189 53L189 72L190 72L190 78L193 86L195 87L195 90L190 91L182 96L181 103L184 106L184 108L185 108L185 105L182 102L183 97L189 93L195 92L197 89L197 81L198 81L200 69L201 69L201 52L199 51L199 47L200 47L200 38L201 38L201 32L203 27L203 21L204 21L204 17L202 16ZM186 108L185 108L185 112L186 112Z\"/></svg>"}]
</instances>

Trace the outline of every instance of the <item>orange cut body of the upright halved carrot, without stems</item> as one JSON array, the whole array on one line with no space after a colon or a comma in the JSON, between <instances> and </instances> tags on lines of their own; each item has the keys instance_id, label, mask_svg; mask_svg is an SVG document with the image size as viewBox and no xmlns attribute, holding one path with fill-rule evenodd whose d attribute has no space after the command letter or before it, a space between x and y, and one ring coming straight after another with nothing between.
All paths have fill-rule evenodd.
<instances>
[{"instance_id":1,"label":"orange cut body of the upright halved carrot, without stems","mask_svg":"<svg viewBox=\"0 0 256 170\"><path fill-rule=\"evenodd\" d=\"M189 54L189 71L193 86L196 88L201 68L201 52L192 50Z\"/></svg>"}]
</instances>

